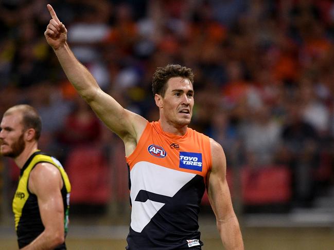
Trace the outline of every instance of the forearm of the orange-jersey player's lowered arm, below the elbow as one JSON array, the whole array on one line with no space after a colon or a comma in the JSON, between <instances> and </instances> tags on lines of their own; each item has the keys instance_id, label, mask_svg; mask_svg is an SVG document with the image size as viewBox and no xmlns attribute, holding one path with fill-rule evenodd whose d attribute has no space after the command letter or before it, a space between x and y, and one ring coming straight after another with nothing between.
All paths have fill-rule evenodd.
<instances>
[{"instance_id":1,"label":"forearm of the orange-jersey player's lowered arm, below the elbow","mask_svg":"<svg viewBox=\"0 0 334 250\"><path fill-rule=\"evenodd\" d=\"M217 228L226 250L244 250L237 217L233 216L226 221L217 221Z\"/></svg>"}]
</instances>

